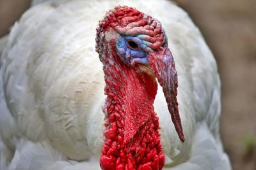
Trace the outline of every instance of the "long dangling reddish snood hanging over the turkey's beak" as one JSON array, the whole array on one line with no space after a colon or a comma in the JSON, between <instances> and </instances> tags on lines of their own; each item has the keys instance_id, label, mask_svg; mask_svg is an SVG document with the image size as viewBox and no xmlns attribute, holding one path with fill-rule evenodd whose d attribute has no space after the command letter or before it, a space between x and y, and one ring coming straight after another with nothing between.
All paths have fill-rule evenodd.
<instances>
[{"instance_id":1,"label":"long dangling reddish snood hanging over the turkey's beak","mask_svg":"<svg viewBox=\"0 0 256 170\"><path fill-rule=\"evenodd\" d=\"M177 103L177 71L172 53L166 48L162 48L148 55L150 67L155 74L157 81L163 87L164 96L168 105L168 110L172 117L180 141L184 142L184 134L180 122L179 108Z\"/></svg>"}]
</instances>

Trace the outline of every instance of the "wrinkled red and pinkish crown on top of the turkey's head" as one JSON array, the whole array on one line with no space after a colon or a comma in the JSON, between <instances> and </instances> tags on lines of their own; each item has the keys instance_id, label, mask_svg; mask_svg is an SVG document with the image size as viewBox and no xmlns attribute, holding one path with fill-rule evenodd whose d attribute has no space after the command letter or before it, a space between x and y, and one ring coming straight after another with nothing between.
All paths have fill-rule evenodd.
<instances>
[{"instance_id":1,"label":"wrinkled red and pinkish crown on top of the turkey's head","mask_svg":"<svg viewBox=\"0 0 256 170\"><path fill-rule=\"evenodd\" d=\"M167 44L161 23L155 18L128 6L116 6L99 21L96 37L96 52L102 55L104 33L110 28L124 36L140 36L147 51L157 50ZM100 60L101 57L100 57Z\"/></svg>"}]
</instances>

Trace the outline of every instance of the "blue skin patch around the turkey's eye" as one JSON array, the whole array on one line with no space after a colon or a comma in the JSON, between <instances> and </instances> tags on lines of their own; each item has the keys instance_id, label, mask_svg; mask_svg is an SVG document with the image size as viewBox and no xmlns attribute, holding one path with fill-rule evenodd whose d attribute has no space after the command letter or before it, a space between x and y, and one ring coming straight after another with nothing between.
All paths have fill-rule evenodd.
<instances>
[{"instance_id":1,"label":"blue skin patch around the turkey's eye","mask_svg":"<svg viewBox=\"0 0 256 170\"><path fill-rule=\"evenodd\" d=\"M125 64L130 65L132 61L148 65L147 53L152 51L147 46L148 42L141 40L141 36L120 36L116 41L116 49Z\"/></svg>"}]
</instances>

